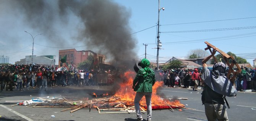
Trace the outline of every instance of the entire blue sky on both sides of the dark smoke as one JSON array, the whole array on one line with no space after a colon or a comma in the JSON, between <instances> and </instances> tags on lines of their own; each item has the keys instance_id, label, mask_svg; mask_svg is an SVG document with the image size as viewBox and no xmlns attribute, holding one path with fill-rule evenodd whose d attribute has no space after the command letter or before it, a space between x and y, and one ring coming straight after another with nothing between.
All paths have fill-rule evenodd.
<instances>
[{"instance_id":1,"label":"entire blue sky on both sides of the dark smoke","mask_svg":"<svg viewBox=\"0 0 256 121\"><path fill-rule=\"evenodd\" d=\"M60 48L40 46L56 46L45 41L47 39L45 31L25 22L23 11L9 6L13 2L0 1L2 2L0 5L0 44L2 45L0 55L9 56L11 63L23 59L26 55L31 55L32 37L24 32L26 30L32 35L43 33L35 38L34 55L57 55L58 58ZM144 57L144 43L148 45L147 58L151 62L156 62L157 49L152 48L157 47L158 0L111 1L122 6L120 9L125 9L130 13L129 25L131 33L134 33L131 36L136 39L134 50L137 55L134 58ZM165 10L160 11L160 41L163 49L159 51L159 62L166 62L172 57L186 58L190 50L206 48L204 41L208 41L226 53L231 51L245 57L253 65L252 60L256 58L255 5L255 0L160 0L160 8L164 7ZM79 29L78 18L69 16L67 21L65 25L62 24L63 22L56 22L55 28L49 29L58 28L55 36L62 37L59 38L60 40L72 40L60 41L58 44L60 46L63 43L70 46L84 45L84 43L73 42L77 35L75 30ZM203 30L204 32L185 32L189 30ZM87 48L77 47L76 49L86 50ZM245 56L245 54L249 55Z\"/></svg>"}]
</instances>

